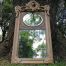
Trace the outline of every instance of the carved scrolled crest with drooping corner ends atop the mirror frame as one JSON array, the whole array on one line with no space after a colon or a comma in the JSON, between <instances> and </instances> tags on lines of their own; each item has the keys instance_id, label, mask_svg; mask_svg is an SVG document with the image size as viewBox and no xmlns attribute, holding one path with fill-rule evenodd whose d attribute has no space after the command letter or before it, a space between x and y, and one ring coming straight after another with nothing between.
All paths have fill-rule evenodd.
<instances>
[{"instance_id":1,"label":"carved scrolled crest with drooping corner ends atop the mirror frame","mask_svg":"<svg viewBox=\"0 0 66 66\"><path fill-rule=\"evenodd\" d=\"M36 2L35 0L33 1L29 1L25 6L16 6L15 7L15 12L16 12L16 16L19 15L19 12L35 12L35 11L46 11L47 14L49 15L49 5L44 5L44 6L40 6L40 4L38 2Z\"/></svg>"}]
</instances>

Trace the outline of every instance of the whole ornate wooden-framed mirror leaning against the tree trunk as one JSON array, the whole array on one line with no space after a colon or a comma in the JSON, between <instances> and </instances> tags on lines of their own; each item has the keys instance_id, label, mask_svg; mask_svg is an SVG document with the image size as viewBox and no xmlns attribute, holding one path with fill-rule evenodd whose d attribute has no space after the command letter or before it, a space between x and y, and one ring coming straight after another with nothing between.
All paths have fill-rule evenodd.
<instances>
[{"instance_id":1,"label":"whole ornate wooden-framed mirror leaning against the tree trunk","mask_svg":"<svg viewBox=\"0 0 66 66\"><path fill-rule=\"evenodd\" d=\"M52 63L49 5L16 6L12 63Z\"/></svg>"}]
</instances>

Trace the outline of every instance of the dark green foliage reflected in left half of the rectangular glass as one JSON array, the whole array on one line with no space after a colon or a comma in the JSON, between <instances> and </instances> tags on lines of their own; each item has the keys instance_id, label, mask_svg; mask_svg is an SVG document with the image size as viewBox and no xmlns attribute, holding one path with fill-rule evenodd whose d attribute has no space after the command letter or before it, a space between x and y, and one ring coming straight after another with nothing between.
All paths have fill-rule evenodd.
<instances>
[{"instance_id":1,"label":"dark green foliage reflected in left half of the rectangular glass","mask_svg":"<svg viewBox=\"0 0 66 66\"><path fill-rule=\"evenodd\" d=\"M20 46L19 46L19 57L29 58L33 56L32 43L33 40L29 39L29 32L20 32Z\"/></svg>"}]
</instances>

